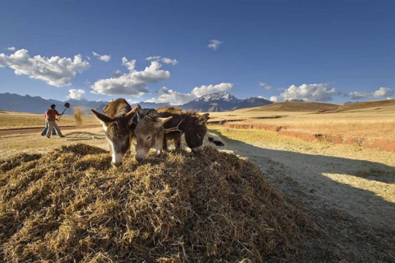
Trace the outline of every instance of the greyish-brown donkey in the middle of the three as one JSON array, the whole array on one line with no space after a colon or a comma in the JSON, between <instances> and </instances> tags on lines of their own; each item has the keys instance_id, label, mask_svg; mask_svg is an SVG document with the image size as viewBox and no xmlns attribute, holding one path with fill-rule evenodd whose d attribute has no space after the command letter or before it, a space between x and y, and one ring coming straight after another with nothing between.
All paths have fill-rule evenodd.
<instances>
[{"instance_id":1,"label":"greyish-brown donkey in the middle of the three","mask_svg":"<svg viewBox=\"0 0 395 263\"><path fill-rule=\"evenodd\" d=\"M156 148L158 153L163 147L163 138L165 129L163 125L168 122L172 116L161 118L157 111L152 110L144 114L143 109L137 109L138 123L134 130L137 143L136 160L143 161L151 148Z\"/></svg>"}]
</instances>

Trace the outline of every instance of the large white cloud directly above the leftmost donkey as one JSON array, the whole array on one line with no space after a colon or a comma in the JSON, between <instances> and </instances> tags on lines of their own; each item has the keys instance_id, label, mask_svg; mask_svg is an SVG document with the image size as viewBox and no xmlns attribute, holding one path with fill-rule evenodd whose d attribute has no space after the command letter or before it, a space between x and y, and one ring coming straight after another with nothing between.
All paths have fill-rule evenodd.
<instances>
[{"instance_id":1,"label":"large white cloud directly above the leftmost donkey","mask_svg":"<svg viewBox=\"0 0 395 263\"><path fill-rule=\"evenodd\" d=\"M91 86L91 93L141 96L148 92L148 83L170 78L170 72L160 70L161 65L158 61L152 61L143 71L135 70L136 60L129 61L126 57L122 58L122 65L129 70L128 73L116 71L112 78L97 80Z\"/></svg>"}]
</instances>

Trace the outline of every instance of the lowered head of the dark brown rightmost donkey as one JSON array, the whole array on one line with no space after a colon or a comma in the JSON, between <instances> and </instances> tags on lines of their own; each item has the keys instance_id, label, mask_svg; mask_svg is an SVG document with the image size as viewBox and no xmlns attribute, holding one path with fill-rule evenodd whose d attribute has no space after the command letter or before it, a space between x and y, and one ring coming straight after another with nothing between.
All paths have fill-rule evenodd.
<instances>
[{"instance_id":1,"label":"lowered head of the dark brown rightmost donkey","mask_svg":"<svg viewBox=\"0 0 395 263\"><path fill-rule=\"evenodd\" d=\"M185 142L193 152L200 152L203 150L203 139L207 133L206 122L209 119L209 113L201 116L191 116L188 122L185 123Z\"/></svg>"}]
</instances>

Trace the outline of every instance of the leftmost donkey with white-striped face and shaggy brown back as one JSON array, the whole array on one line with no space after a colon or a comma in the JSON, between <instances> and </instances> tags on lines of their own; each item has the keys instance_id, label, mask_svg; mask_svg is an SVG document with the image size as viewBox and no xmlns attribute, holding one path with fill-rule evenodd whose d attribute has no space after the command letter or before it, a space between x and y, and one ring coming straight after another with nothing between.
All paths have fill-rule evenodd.
<instances>
[{"instance_id":1,"label":"leftmost donkey with white-striped face and shaggy brown back","mask_svg":"<svg viewBox=\"0 0 395 263\"><path fill-rule=\"evenodd\" d=\"M104 114L91 109L106 132L112 155L111 163L114 166L122 164L123 155L130 149L130 141L136 127L133 119L138 109L142 110L140 105L132 110L125 99L112 100L104 107Z\"/></svg>"}]
</instances>

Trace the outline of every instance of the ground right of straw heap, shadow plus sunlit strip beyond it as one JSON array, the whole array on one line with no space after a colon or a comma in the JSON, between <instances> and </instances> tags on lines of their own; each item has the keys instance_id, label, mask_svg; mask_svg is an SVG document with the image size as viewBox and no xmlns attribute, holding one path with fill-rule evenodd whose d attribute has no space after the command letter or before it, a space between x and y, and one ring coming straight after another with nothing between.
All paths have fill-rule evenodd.
<instances>
[{"instance_id":1,"label":"ground right of straw heap, shadow plus sunlit strip beyond it","mask_svg":"<svg viewBox=\"0 0 395 263\"><path fill-rule=\"evenodd\" d=\"M239 135L236 136L232 129L213 132L226 144L223 149L232 150L257 163L270 181L287 182L288 178L296 182L296 186L291 188L286 183L280 183L278 187L283 188L280 190L301 190L298 194L300 198L310 196L320 200L320 205L322 202L335 205L368 225L395 228L393 156L374 151L353 152L355 149L342 152L339 146L323 147L297 139L284 141L284 137L271 132L266 132L266 135L260 132L261 138L254 141L253 133L254 130L249 131L250 142L245 142L237 140ZM373 157L373 153L380 156ZM369 154L374 161L363 158ZM384 161L385 157L388 157L387 161Z\"/></svg>"}]
</instances>

